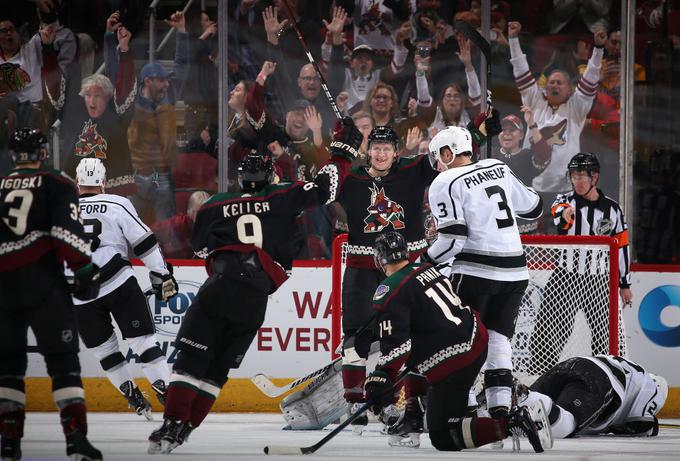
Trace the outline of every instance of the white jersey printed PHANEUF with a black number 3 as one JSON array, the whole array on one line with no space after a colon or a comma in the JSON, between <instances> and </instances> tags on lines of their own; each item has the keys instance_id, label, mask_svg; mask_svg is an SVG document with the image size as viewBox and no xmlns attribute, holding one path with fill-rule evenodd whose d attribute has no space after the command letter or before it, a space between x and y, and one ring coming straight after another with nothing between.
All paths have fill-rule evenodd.
<instances>
[{"instance_id":1,"label":"white jersey printed PHANEUF with a black number 3","mask_svg":"<svg viewBox=\"0 0 680 461\"><path fill-rule=\"evenodd\" d=\"M541 215L541 199L500 160L484 159L440 173L430 186L437 240L428 256L450 262L452 274L527 280L515 217Z\"/></svg>"}]
</instances>

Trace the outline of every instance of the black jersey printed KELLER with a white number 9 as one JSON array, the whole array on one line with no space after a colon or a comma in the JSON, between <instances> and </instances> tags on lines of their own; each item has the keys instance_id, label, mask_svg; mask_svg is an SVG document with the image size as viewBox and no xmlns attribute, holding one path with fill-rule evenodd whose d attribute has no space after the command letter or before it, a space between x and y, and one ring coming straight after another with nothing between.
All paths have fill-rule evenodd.
<instances>
[{"instance_id":1,"label":"black jersey printed KELLER with a white number 9","mask_svg":"<svg viewBox=\"0 0 680 461\"><path fill-rule=\"evenodd\" d=\"M216 251L257 251L264 270L280 286L287 278L283 268L291 268L297 250L296 216L335 198L342 176L338 170L344 167L324 166L315 182L269 185L252 195L213 196L196 216L194 251L202 257Z\"/></svg>"}]
</instances>

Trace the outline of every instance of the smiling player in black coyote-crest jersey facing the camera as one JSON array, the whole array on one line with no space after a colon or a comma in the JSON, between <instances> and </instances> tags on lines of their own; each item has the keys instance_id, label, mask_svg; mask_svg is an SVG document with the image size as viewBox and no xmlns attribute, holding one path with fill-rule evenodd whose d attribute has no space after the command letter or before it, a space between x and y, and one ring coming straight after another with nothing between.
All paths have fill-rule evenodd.
<instances>
[{"instance_id":1,"label":"smiling player in black coyote-crest jersey facing the camera","mask_svg":"<svg viewBox=\"0 0 680 461\"><path fill-rule=\"evenodd\" d=\"M373 244L378 234L398 231L408 242L411 258L427 247L423 226L423 197L437 175L426 156L399 158L397 133L389 126L374 128L368 136L369 165L353 168L345 179L338 201L347 212L349 227L347 268L342 281L342 330L345 340L353 338L353 350L346 344L342 379L350 403L364 401L366 359L374 338L372 328L357 330L371 318L371 298L382 280L373 261ZM352 358L353 357L353 358ZM409 392L410 381L406 389ZM355 421L355 431L368 423Z\"/></svg>"}]
</instances>

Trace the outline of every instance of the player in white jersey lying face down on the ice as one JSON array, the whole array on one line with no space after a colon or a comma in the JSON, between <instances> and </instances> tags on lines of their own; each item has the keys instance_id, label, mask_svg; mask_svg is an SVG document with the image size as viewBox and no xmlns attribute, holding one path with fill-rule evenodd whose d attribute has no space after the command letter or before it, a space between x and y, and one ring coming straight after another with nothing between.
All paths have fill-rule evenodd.
<instances>
[{"instance_id":1,"label":"player in white jersey lying face down on the ice","mask_svg":"<svg viewBox=\"0 0 680 461\"><path fill-rule=\"evenodd\" d=\"M596 355L558 363L519 403L543 402L555 438L608 433L646 437L658 434L656 415L667 396L663 377L623 357Z\"/></svg>"}]
</instances>

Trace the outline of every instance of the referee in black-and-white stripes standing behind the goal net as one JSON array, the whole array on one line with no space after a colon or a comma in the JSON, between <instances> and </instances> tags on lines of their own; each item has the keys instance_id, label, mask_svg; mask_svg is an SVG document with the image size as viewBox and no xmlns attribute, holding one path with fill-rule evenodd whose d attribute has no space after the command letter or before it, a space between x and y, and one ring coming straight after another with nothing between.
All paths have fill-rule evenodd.
<instances>
[{"instance_id":1,"label":"referee in black-and-white stripes standing behind the goal net","mask_svg":"<svg viewBox=\"0 0 680 461\"><path fill-rule=\"evenodd\" d=\"M624 305L631 303L630 246L628 226L623 211L605 196L597 183L600 162L591 153L578 153L567 166L573 190L557 196L552 216L560 235L607 235L619 244L619 289ZM542 373L559 360L562 349L571 336L579 304L591 333L592 354L608 354L609 308L606 255L598 250L569 249L561 252L558 267L550 276L543 299L560 306L549 311L541 305L536 328L531 337L532 371ZM569 283L565 283L569 280ZM575 287L567 290L565 287ZM548 339L550 339L548 341ZM546 349L546 345L551 348ZM619 347L621 350L621 347Z\"/></svg>"}]
</instances>

